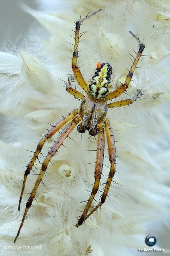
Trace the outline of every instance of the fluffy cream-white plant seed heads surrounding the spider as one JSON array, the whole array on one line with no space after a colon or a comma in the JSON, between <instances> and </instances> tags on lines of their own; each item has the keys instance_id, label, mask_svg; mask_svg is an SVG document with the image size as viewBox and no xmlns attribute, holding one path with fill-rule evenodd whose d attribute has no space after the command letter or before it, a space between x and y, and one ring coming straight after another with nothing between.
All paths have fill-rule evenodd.
<instances>
[{"instance_id":1,"label":"fluffy cream-white plant seed heads surrounding the spider","mask_svg":"<svg viewBox=\"0 0 170 256\"><path fill-rule=\"evenodd\" d=\"M138 248L151 249L145 244L146 236L163 234L169 220L169 1L36 3L37 10L21 5L36 26L15 41L6 40L1 52L1 114L6 121L1 140L1 255L136 256ZM94 184L95 164L89 163L95 163L97 137L81 136L74 129L52 158L13 244L43 156L60 133L45 143L40 162L28 176L18 212L25 166L36 143L46 129L80 104L67 94L64 83L68 74L73 75L69 50L73 50L74 22L80 14L85 17L100 8L80 28L80 33L86 33L79 43L78 65L86 81L98 61L108 62L118 87L138 51L129 31L146 44L133 81L119 100L132 98L137 89L142 89L143 98L108 112L117 148L112 187L98 212L76 228L76 218ZM81 91L76 80L72 86ZM109 173L107 154L106 150L93 207ZM159 239L154 248L161 248Z\"/></svg>"}]
</instances>

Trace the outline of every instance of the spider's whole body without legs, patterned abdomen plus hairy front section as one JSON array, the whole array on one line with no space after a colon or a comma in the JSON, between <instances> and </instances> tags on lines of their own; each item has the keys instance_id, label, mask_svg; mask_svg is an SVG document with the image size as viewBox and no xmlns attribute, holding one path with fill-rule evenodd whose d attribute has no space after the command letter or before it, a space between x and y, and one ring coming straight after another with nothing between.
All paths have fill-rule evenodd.
<instances>
[{"instance_id":1,"label":"spider's whole body without legs, patterned abdomen plus hairy front section","mask_svg":"<svg viewBox=\"0 0 170 256\"><path fill-rule=\"evenodd\" d=\"M97 124L106 118L108 112L107 95L113 89L113 68L109 63L100 64L91 75L87 89L89 95L80 103L79 114L82 122L77 127L78 132L89 131L91 136L97 135Z\"/></svg>"}]
</instances>

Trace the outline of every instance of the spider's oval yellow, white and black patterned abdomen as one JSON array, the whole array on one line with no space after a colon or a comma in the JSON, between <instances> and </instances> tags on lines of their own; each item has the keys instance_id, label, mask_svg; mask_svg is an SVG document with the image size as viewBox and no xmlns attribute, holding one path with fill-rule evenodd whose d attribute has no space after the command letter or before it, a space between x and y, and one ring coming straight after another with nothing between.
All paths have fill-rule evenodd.
<instances>
[{"instance_id":1,"label":"spider's oval yellow, white and black patterned abdomen","mask_svg":"<svg viewBox=\"0 0 170 256\"><path fill-rule=\"evenodd\" d=\"M109 63L96 68L88 82L88 92L95 99L106 98L113 89L114 72Z\"/></svg>"}]
</instances>

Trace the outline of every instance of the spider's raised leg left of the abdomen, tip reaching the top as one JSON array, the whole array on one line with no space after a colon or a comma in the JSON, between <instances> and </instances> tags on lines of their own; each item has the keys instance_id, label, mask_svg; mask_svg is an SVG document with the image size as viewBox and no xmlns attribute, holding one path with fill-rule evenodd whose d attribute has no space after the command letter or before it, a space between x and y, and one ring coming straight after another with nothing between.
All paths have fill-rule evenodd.
<instances>
[{"instance_id":1,"label":"spider's raised leg left of the abdomen, tip reaching the top","mask_svg":"<svg viewBox=\"0 0 170 256\"><path fill-rule=\"evenodd\" d=\"M74 44L74 53L73 53L73 60L72 60L72 69L75 75L75 78L78 82L78 84L81 86L81 88L84 89L84 91L86 93L88 93L87 91L87 84L80 72L80 69L77 66L77 58L78 58L78 44L79 44L79 32L80 32L80 25L81 22L83 22L84 20L86 20L87 18L90 18L91 16L93 16L94 14L96 14L97 12L100 12L102 9L93 12L90 15L87 15L85 18L82 18L81 20L76 21L76 25L75 25L75 44Z\"/></svg>"}]
</instances>

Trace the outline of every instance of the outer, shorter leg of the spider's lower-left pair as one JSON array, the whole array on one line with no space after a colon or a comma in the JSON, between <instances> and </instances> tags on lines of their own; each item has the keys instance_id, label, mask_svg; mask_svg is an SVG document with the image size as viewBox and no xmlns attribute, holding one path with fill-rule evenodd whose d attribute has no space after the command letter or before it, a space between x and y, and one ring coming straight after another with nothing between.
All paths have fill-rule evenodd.
<instances>
[{"instance_id":1,"label":"outer, shorter leg of the spider's lower-left pair","mask_svg":"<svg viewBox=\"0 0 170 256\"><path fill-rule=\"evenodd\" d=\"M60 128L62 128L64 126L64 124L66 124L70 120L72 120L77 114L78 114L78 108L76 108L75 110L73 110L69 114L67 114L64 117L62 117L55 124L53 124L53 126L45 133L43 138L38 143L36 151L35 151L32 159L30 160L30 162L28 164L28 167L27 167L27 169L26 169L26 171L24 173L24 179L23 179L21 196L20 196L20 199L19 199L18 210L20 210L22 196L23 196L23 193L24 193L24 188L25 188L25 185L26 185L27 176L30 173L30 171L31 171L31 169L32 169L36 159L38 159L38 156L40 154L40 151L41 151L42 147L44 146L44 143L46 142L47 139L50 139Z\"/></svg>"}]
</instances>

